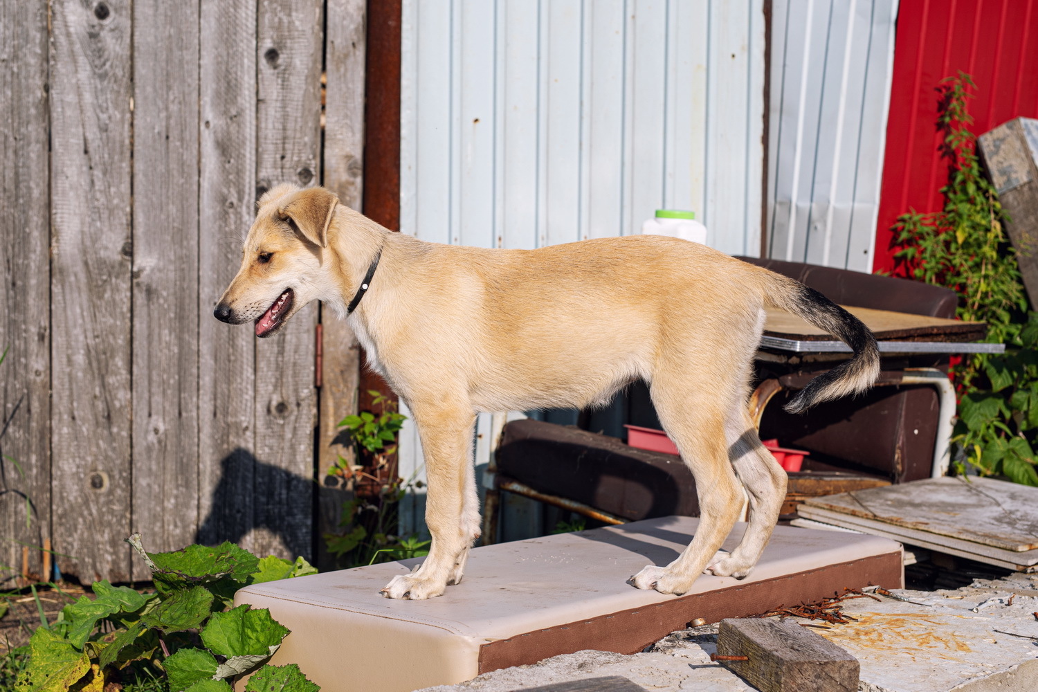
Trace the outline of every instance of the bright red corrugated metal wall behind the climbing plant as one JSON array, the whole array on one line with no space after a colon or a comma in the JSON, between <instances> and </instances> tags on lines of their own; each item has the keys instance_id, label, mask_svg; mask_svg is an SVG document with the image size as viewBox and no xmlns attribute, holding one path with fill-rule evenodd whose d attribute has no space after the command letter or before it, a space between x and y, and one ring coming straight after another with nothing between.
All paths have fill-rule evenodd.
<instances>
[{"instance_id":1,"label":"bright red corrugated metal wall behind the climbing plant","mask_svg":"<svg viewBox=\"0 0 1038 692\"><path fill-rule=\"evenodd\" d=\"M875 271L894 268L891 226L914 207L935 212L947 166L937 154L934 87L973 76L973 132L1038 117L1038 0L901 0L876 228Z\"/></svg>"}]
</instances>

